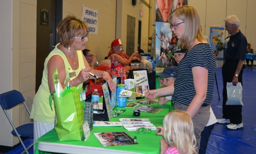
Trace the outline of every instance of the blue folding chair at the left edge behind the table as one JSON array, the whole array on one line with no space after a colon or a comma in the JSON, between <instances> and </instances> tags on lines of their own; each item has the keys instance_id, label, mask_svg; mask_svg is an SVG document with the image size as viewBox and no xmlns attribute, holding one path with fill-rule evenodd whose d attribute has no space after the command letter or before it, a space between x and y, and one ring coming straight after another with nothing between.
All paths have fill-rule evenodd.
<instances>
[{"instance_id":1,"label":"blue folding chair at the left edge behind the table","mask_svg":"<svg viewBox=\"0 0 256 154\"><path fill-rule=\"evenodd\" d=\"M0 95L1 107L3 108L4 113L7 116L8 120L9 120L9 122L10 122L12 128L13 128L11 133L12 133L12 135L17 136L19 138L19 141L21 142L21 145L24 148L24 151L22 153L26 152L27 154L29 154L28 149L30 149L33 146L33 143L26 148L26 146L23 143L21 137L33 137L34 136L33 123L23 124L23 125L15 128L14 124L12 123L12 120L11 120L10 116L7 113L8 109L11 109L11 108L13 108L16 105L19 105L21 103L23 103L27 112L30 115L30 111L27 108L27 105L25 104L25 99L22 96L21 92L16 91L16 90L12 90L12 91L9 91L9 92L2 93Z\"/></svg>"}]
</instances>

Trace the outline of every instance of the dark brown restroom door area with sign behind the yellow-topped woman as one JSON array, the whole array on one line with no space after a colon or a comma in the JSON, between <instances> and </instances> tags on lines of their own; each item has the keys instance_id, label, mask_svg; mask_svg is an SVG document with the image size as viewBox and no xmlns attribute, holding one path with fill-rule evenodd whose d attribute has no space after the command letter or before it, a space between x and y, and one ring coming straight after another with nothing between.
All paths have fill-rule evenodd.
<instances>
[{"instance_id":1,"label":"dark brown restroom door area with sign behind the yellow-topped woman","mask_svg":"<svg viewBox=\"0 0 256 154\"><path fill-rule=\"evenodd\" d=\"M44 61L58 42L56 25L62 20L62 0L37 0L36 92L41 85Z\"/></svg>"}]
</instances>

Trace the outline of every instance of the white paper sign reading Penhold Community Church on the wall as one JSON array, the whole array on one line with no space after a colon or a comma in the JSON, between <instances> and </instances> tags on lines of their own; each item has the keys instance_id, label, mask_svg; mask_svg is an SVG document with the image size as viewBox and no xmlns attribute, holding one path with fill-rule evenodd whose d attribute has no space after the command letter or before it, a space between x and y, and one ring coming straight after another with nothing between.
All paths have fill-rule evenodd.
<instances>
[{"instance_id":1,"label":"white paper sign reading Penhold Community Church on the wall","mask_svg":"<svg viewBox=\"0 0 256 154\"><path fill-rule=\"evenodd\" d=\"M82 20L88 24L90 34L98 34L98 11L83 7Z\"/></svg>"}]
</instances>

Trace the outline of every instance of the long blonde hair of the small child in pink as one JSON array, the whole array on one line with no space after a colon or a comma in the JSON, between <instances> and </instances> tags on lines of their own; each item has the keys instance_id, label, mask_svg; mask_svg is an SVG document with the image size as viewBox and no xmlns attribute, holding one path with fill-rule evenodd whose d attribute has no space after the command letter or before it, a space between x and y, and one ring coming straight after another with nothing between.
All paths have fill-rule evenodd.
<instances>
[{"instance_id":1,"label":"long blonde hair of the small child in pink","mask_svg":"<svg viewBox=\"0 0 256 154\"><path fill-rule=\"evenodd\" d=\"M163 127L163 136L168 145L175 146L179 154L196 154L193 122L187 112L169 112L164 117Z\"/></svg>"}]
</instances>

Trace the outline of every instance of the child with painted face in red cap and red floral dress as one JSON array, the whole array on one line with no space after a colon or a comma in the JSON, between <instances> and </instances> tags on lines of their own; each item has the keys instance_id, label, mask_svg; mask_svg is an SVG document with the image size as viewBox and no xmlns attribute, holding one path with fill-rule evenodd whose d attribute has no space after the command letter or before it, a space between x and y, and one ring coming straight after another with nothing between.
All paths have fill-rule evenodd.
<instances>
[{"instance_id":1,"label":"child with painted face in red cap and red floral dress","mask_svg":"<svg viewBox=\"0 0 256 154\"><path fill-rule=\"evenodd\" d=\"M110 75L111 75L111 77L114 77L115 75L117 77L121 77L121 81L124 84L124 80L126 79L125 65L130 65L130 62L133 60L133 57L138 55L138 51L131 54L129 59L125 60L119 55L120 52L123 51L122 45L123 44L122 44L121 39L115 39L111 43L111 49L113 52L110 56L110 60L111 60Z\"/></svg>"}]
</instances>

